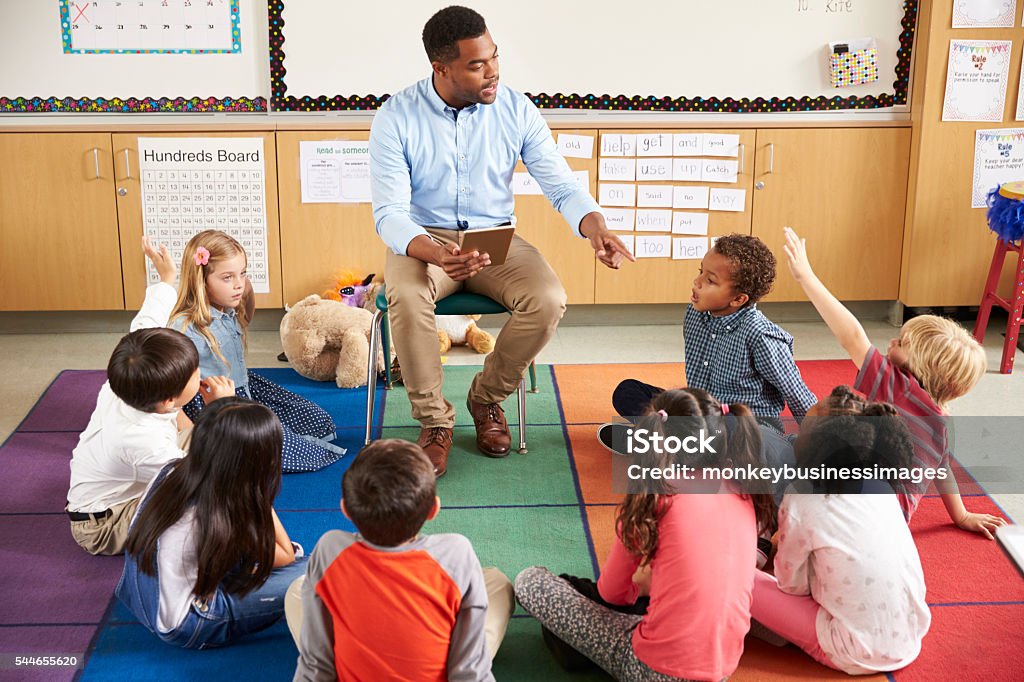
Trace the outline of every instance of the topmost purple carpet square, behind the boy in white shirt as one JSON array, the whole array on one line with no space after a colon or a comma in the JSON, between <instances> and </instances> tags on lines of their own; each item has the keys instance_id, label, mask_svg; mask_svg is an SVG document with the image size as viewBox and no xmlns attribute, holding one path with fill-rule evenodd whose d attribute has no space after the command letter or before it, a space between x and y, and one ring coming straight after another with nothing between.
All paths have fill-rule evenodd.
<instances>
[{"instance_id":1,"label":"topmost purple carpet square, behind the boy in white shirt","mask_svg":"<svg viewBox=\"0 0 1024 682\"><path fill-rule=\"evenodd\" d=\"M84 431L104 381L106 372L102 370L65 370L17 430Z\"/></svg>"}]
</instances>

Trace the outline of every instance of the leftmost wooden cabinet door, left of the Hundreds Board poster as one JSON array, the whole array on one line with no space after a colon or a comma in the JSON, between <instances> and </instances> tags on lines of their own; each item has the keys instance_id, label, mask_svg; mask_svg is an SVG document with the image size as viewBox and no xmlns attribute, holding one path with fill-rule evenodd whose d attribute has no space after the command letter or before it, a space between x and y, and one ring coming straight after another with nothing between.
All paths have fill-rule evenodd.
<instances>
[{"instance_id":1,"label":"leftmost wooden cabinet door, left of the Hundreds Board poster","mask_svg":"<svg viewBox=\"0 0 1024 682\"><path fill-rule=\"evenodd\" d=\"M0 309L124 309L120 254L110 133L0 134Z\"/></svg>"}]
</instances>

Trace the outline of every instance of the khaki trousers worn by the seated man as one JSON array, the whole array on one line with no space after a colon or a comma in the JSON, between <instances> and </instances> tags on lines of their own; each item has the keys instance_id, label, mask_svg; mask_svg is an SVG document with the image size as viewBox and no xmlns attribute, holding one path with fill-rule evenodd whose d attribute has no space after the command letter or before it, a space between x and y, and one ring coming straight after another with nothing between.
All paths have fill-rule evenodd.
<instances>
[{"instance_id":1,"label":"khaki trousers worn by the seated man","mask_svg":"<svg viewBox=\"0 0 1024 682\"><path fill-rule=\"evenodd\" d=\"M429 228L452 242L456 230ZM541 255L518 235L512 238L501 265L483 268L465 282L455 282L436 265L399 256L390 250L384 269L391 339L401 378L413 404L413 419L424 428L455 425L455 409L444 399L443 373L437 347L434 303L457 291L482 294L512 312L494 351L483 361L469 389L474 402L501 402L547 345L565 312L565 290Z\"/></svg>"}]
</instances>

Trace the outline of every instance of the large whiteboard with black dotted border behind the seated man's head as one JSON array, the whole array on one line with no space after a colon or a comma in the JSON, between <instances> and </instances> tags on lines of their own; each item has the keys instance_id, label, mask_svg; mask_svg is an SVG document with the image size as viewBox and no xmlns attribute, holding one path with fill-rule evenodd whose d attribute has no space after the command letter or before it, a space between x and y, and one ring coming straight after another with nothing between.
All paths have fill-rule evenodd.
<instances>
[{"instance_id":1,"label":"large whiteboard with black dotted border behind the seated man's head","mask_svg":"<svg viewBox=\"0 0 1024 682\"><path fill-rule=\"evenodd\" d=\"M377 97L425 78L430 66L421 40L423 25L447 4L273 2L271 16L274 6L281 7L283 43L276 52L271 44L271 71L284 73L273 88L274 108L373 109ZM653 109L728 112L801 111L788 108L793 104L784 102L786 97L820 100L803 109L836 109L820 103L831 98L859 102L843 108L865 106L865 97L873 97L869 108L906 101L916 0L465 4L487 22L499 46L502 82L531 94L542 106L621 109L637 100L682 99L706 108ZM876 40L879 80L833 88L827 44L861 38ZM901 85L894 87L897 81ZM775 98L778 109L729 109L737 100L758 98ZM707 108L712 99L721 109Z\"/></svg>"}]
</instances>

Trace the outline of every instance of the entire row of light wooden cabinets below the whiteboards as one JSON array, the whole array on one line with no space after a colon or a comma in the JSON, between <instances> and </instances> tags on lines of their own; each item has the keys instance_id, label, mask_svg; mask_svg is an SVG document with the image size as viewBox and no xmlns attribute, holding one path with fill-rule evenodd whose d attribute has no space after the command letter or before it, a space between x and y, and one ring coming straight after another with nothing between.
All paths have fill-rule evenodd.
<instances>
[{"instance_id":1,"label":"entire row of light wooden cabinets below the whiteboards","mask_svg":"<svg viewBox=\"0 0 1024 682\"><path fill-rule=\"evenodd\" d=\"M370 203L302 203L300 141L368 139L368 125L350 128L276 132L233 128L144 135L262 138L270 293L257 296L257 305L280 308L323 292L339 270L384 274L386 247L374 229ZM657 131L706 132L662 127ZM650 132L650 127L553 130L556 137L568 133L594 138L592 158L567 161L573 170L588 172L589 189L595 197L600 182L600 136ZM945 275L919 261L954 248L954 240L948 235L941 243L919 240L913 250L903 249L909 127L707 132L739 135L737 182L671 184L745 190L742 212L709 213L709 235L753 233L768 244L779 265L775 290L767 300L804 300L784 263L781 228L788 224L808 239L815 270L840 299L937 302L916 292L937 291L937 285L930 283ZM0 309L137 309L146 284L139 248L138 137L137 132L0 134L0 285L4 288ZM520 164L517 170L525 169ZM930 210L920 197L919 223ZM569 303L682 303L689 299L698 261L640 259L610 270L596 261L589 242L573 233L547 198L517 195L515 200L519 232L558 273ZM904 296L900 296L901 249L914 265L902 263ZM914 292L913 296L908 292ZM942 300L952 299L943 295Z\"/></svg>"}]
</instances>

